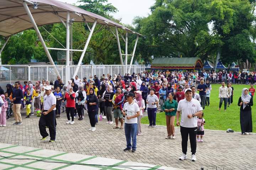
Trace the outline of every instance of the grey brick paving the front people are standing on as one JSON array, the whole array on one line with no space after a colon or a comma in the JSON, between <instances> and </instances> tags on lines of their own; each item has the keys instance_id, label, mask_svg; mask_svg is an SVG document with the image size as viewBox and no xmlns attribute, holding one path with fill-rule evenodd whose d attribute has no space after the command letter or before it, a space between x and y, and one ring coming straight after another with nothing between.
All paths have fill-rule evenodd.
<instances>
[{"instance_id":1,"label":"grey brick paving the front people are standing on","mask_svg":"<svg viewBox=\"0 0 256 170\"><path fill-rule=\"evenodd\" d=\"M169 166L191 170L256 170L256 134L240 135L239 132L205 130L204 142L197 143L197 162L190 159L180 161L181 135L176 130L176 139L165 139L166 127L148 128L142 125L142 136L137 137L137 152L123 152L126 147L124 130L113 129L103 119L96 125L96 131L90 132L89 118L74 125L66 125L66 116L57 119L57 136L54 143L41 142L38 128L39 118L25 118L23 125L12 125L14 118L7 120L6 127L0 127L0 143L51 149L69 153L86 154L103 158L120 159L138 163ZM190 145L188 144L188 151ZM191 158L188 152L188 158Z\"/></svg>"}]
</instances>

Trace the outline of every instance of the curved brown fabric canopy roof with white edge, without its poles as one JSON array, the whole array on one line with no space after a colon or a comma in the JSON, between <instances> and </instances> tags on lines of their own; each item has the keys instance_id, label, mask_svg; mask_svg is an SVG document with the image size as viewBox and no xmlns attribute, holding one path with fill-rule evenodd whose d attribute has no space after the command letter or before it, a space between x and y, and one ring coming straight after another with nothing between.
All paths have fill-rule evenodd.
<instances>
[{"instance_id":1,"label":"curved brown fabric canopy roof with white edge, without its poles","mask_svg":"<svg viewBox=\"0 0 256 170\"><path fill-rule=\"evenodd\" d=\"M116 26L128 32L138 34L110 19L64 2L56 0L24 1L27 2L37 26L66 21L66 12L70 12L70 19L74 18L74 22L94 23L95 19L97 19L98 24ZM0 0L0 4L0 35L7 37L33 28L22 0ZM37 9L34 6L37 6Z\"/></svg>"}]
</instances>

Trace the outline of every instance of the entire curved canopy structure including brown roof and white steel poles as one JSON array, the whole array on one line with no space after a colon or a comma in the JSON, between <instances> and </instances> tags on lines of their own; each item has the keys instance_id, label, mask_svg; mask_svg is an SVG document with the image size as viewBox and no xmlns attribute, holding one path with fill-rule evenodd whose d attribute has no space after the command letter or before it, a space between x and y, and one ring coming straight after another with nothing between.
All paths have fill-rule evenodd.
<instances>
[{"instance_id":1,"label":"entire curved canopy structure including brown roof and white steel poles","mask_svg":"<svg viewBox=\"0 0 256 170\"><path fill-rule=\"evenodd\" d=\"M112 34L117 39L118 51L121 64L123 65L122 56L125 55L125 64L127 64L128 56L131 56L130 67L131 68L139 33L136 33L129 28L122 26L119 23L113 22L110 19L102 17L92 12L85 11L79 7L66 4L64 2L56 1L56 0L37 0L36 2L30 0L0 0L0 35L6 37L6 42L2 46L0 50L0 55L4 46L6 45L9 37L12 34L16 34L22 32L23 30L34 28L40 39L44 51L52 65L54 62L48 50L63 50L66 51L66 66L70 65L70 51L80 51L82 52L80 60L78 62L78 66L81 65L82 59L84 58L86 49L89 45L91 36L94 32L94 28L96 24L101 24L106 27L114 27L114 31L110 29ZM41 33L39 32L38 26L43 26L47 24L60 23L62 22L66 27L66 48L57 49L53 47L47 47ZM85 25L90 30L90 34L87 38L85 46L83 50L70 49L70 26L73 22L84 22ZM90 28L88 23L94 23ZM119 42L119 33L118 29L123 29L126 31L125 37L121 35L124 40L125 46L125 54L122 54L121 46ZM134 50L132 54L128 54L128 33L137 34L137 39L135 41ZM1 56L0 56L1 58ZM1 64L1 59L0 59ZM79 67L76 67L73 77L78 73ZM129 72L129 71L128 71ZM70 71L66 70L66 74L69 74ZM58 74L58 72L57 72ZM70 75L67 75L70 78ZM68 79L66 79L68 80ZM67 83L67 82L66 82Z\"/></svg>"}]
</instances>

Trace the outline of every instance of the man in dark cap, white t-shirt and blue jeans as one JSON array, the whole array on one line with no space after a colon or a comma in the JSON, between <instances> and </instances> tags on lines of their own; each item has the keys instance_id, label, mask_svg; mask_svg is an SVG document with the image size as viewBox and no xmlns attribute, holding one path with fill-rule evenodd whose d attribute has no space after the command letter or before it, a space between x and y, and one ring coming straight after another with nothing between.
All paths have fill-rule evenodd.
<instances>
[{"instance_id":1,"label":"man in dark cap, white t-shirt and blue jeans","mask_svg":"<svg viewBox=\"0 0 256 170\"><path fill-rule=\"evenodd\" d=\"M123 116L125 116L124 132L126 135L126 148L123 151L136 152L137 117L140 115L139 105L133 101L134 94L128 93L127 101L123 106ZM132 137L132 145L131 145Z\"/></svg>"}]
</instances>

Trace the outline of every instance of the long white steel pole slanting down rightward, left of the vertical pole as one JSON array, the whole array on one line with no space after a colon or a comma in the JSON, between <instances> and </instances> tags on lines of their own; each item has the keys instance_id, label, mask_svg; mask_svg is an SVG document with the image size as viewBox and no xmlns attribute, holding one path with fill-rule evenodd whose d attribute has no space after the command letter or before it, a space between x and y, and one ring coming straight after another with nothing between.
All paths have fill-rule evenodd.
<instances>
[{"instance_id":1,"label":"long white steel pole slanting down rightward, left of the vertical pole","mask_svg":"<svg viewBox=\"0 0 256 170\"><path fill-rule=\"evenodd\" d=\"M28 6L27 6L27 3L26 3L26 2L23 2L23 6L24 6L24 8L25 8L25 11L27 12L28 17L30 18L30 21L31 21L31 23L32 23L32 25L33 25L33 27L34 27L36 33L37 33L37 36L38 36L38 38L39 38L39 40L40 40L40 42L41 42L41 44L42 44L42 46L43 46L44 51L46 52L46 55L47 55L47 57L48 57L50 63L51 63L53 66L55 66L55 64L54 64L54 62L53 62L53 59L52 59L52 57L50 56L50 53L49 53L49 51L48 51L48 49L47 49L47 47L46 47L46 44L44 43L43 37L42 37L41 33L39 32L39 29L38 29L38 27L37 27L37 24L36 24L36 22L34 21L34 18L33 18L32 14L31 14L31 12L30 12L30 9L29 9ZM57 72L57 74L58 74L58 72Z\"/></svg>"}]
</instances>

